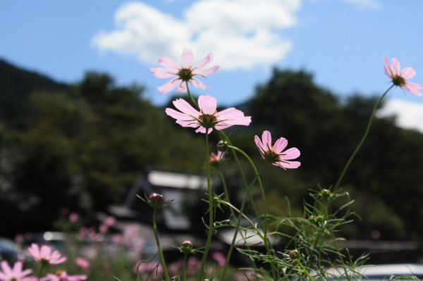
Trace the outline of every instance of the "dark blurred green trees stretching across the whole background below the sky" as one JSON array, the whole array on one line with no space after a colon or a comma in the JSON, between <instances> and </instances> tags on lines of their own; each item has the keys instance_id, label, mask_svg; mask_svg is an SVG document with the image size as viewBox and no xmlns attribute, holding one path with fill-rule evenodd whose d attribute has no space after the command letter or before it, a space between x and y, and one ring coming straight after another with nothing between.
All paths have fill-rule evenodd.
<instances>
[{"instance_id":1,"label":"dark blurred green trees stretching across the whole background below the sky","mask_svg":"<svg viewBox=\"0 0 423 281\"><path fill-rule=\"evenodd\" d=\"M0 235L47 228L63 206L87 214L104 210L123 200L147 166L203 166L202 138L175 125L142 96L142 87L118 87L100 73L61 85L20 71L21 80L0 85L0 218L9 225ZM301 213L309 189L336 181L373 105L374 98L360 95L340 101L305 71L276 69L237 106L254 118L251 126L234 129L233 143L257 156L258 166L253 137L264 129L302 152L300 169L271 168L262 175L270 213L283 214L285 196L293 213ZM213 140L219 141L217 134ZM423 216L423 166L416 165L423 161L422 146L419 132L396 127L393 118L375 120L341 185L362 217L345 229L349 237L368 239L377 230L381 239L422 239L423 225L415 223ZM237 173L226 173L235 189ZM16 216L7 215L11 210Z\"/></svg>"}]
</instances>

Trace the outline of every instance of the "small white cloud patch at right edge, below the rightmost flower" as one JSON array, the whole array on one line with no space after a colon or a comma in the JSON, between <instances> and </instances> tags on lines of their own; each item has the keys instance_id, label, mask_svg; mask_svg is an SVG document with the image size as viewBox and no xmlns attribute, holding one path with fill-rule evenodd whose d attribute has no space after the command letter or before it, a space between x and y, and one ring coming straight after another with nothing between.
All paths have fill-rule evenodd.
<instances>
[{"instance_id":1,"label":"small white cloud patch at right edge, below the rightmost flower","mask_svg":"<svg viewBox=\"0 0 423 281\"><path fill-rule=\"evenodd\" d=\"M398 126L423 132L423 104L401 99L389 99L384 108L381 108L378 112L378 115L396 115Z\"/></svg>"}]
</instances>

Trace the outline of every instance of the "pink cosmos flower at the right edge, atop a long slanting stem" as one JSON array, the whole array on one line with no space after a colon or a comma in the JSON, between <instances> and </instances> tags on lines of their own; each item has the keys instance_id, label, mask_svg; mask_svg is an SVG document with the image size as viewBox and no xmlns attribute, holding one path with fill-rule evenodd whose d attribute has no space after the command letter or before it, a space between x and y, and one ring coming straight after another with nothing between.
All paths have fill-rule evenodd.
<instances>
[{"instance_id":1,"label":"pink cosmos flower at the right edge, atop a long slanting stem","mask_svg":"<svg viewBox=\"0 0 423 281\"><path fill-rule=\"evenodd\" d=\"M407 81L416 75L413 68L404 68L401 70L400 62L396 58L392 58L392 64L389 63L386 56L384 56L384 61L385 73L391 78L394 85L400 86L412 94L417 94L417 96L423 96L423 93L419 91L423 89L422 85Z\"/></svg>"}]
</instances>

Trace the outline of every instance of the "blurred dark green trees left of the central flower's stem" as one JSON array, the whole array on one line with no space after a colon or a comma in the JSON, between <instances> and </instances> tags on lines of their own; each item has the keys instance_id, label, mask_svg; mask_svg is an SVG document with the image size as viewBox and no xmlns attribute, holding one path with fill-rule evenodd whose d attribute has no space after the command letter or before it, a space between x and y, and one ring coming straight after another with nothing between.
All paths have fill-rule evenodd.
<instances>
[{"instance_id":1,"label":"blurred dark green trees left of the central flower's stem","mask_svg":"<svg viewBox=\"0 0 423 281\"><path fill-rule=\"evenodd\" d=\"M0 120L0 235L49 229L63 207L90 215L121 203L147 166L202 166L202 142L142 92L87 73L61 91L16 96L27 111Z\"/></svg>"}]
</instances>

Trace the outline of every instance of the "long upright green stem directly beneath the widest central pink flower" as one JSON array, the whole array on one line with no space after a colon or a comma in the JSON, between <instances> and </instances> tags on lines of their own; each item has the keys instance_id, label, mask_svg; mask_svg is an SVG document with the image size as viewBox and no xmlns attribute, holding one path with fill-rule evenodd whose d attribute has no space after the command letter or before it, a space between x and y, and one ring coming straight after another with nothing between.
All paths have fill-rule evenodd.
<instances>
[{"instance_id":1,"label":"long upright green stem directly beneath the widest central pink flower","mask_svg":"<svg viewBox=\"0 0 423 281\"><path fill-rule=\"evenodd\" d=\"M209 191L209 233L207 235L207 242L204 248L204 254L202 258L201 268L200 268L200 277L201 280L204 280L204 266L207 261L207 255L209 254L210 244L212 242L212 235L214 232L214 206L213 206L213 192L212 192L212 182L210 180L210 163L209 163L209 129L206 128L206 174L207 174L207 189Z\"/></svg>"}]
</instances>

